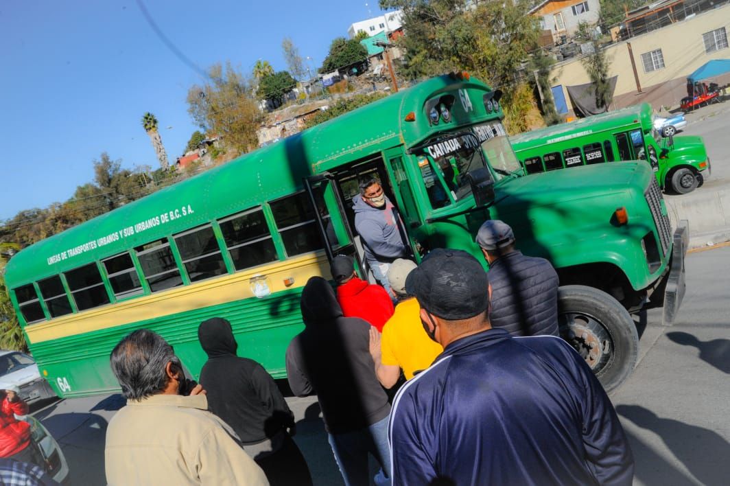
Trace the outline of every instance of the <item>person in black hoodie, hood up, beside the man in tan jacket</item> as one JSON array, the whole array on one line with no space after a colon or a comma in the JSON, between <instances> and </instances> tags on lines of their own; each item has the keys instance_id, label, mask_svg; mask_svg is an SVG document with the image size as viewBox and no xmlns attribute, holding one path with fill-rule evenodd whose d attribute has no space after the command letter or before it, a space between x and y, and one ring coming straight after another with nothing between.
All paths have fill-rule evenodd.
<instances>
[{"instance_id":1,"label":"person in black hoodie, hood up, beside the man in tan jacket","mask_svg":"<svg viewBox=\"0 0 730 486\"><path fill-rule=\"evenodd\" d=\"M231 323L208 319L198 338L208 354L200 383L210 411L233 428L272 486L312 485L307 462L291 438L294 414L271 375L258 362L236 355Z\"/></svg>"}]
</instances>

